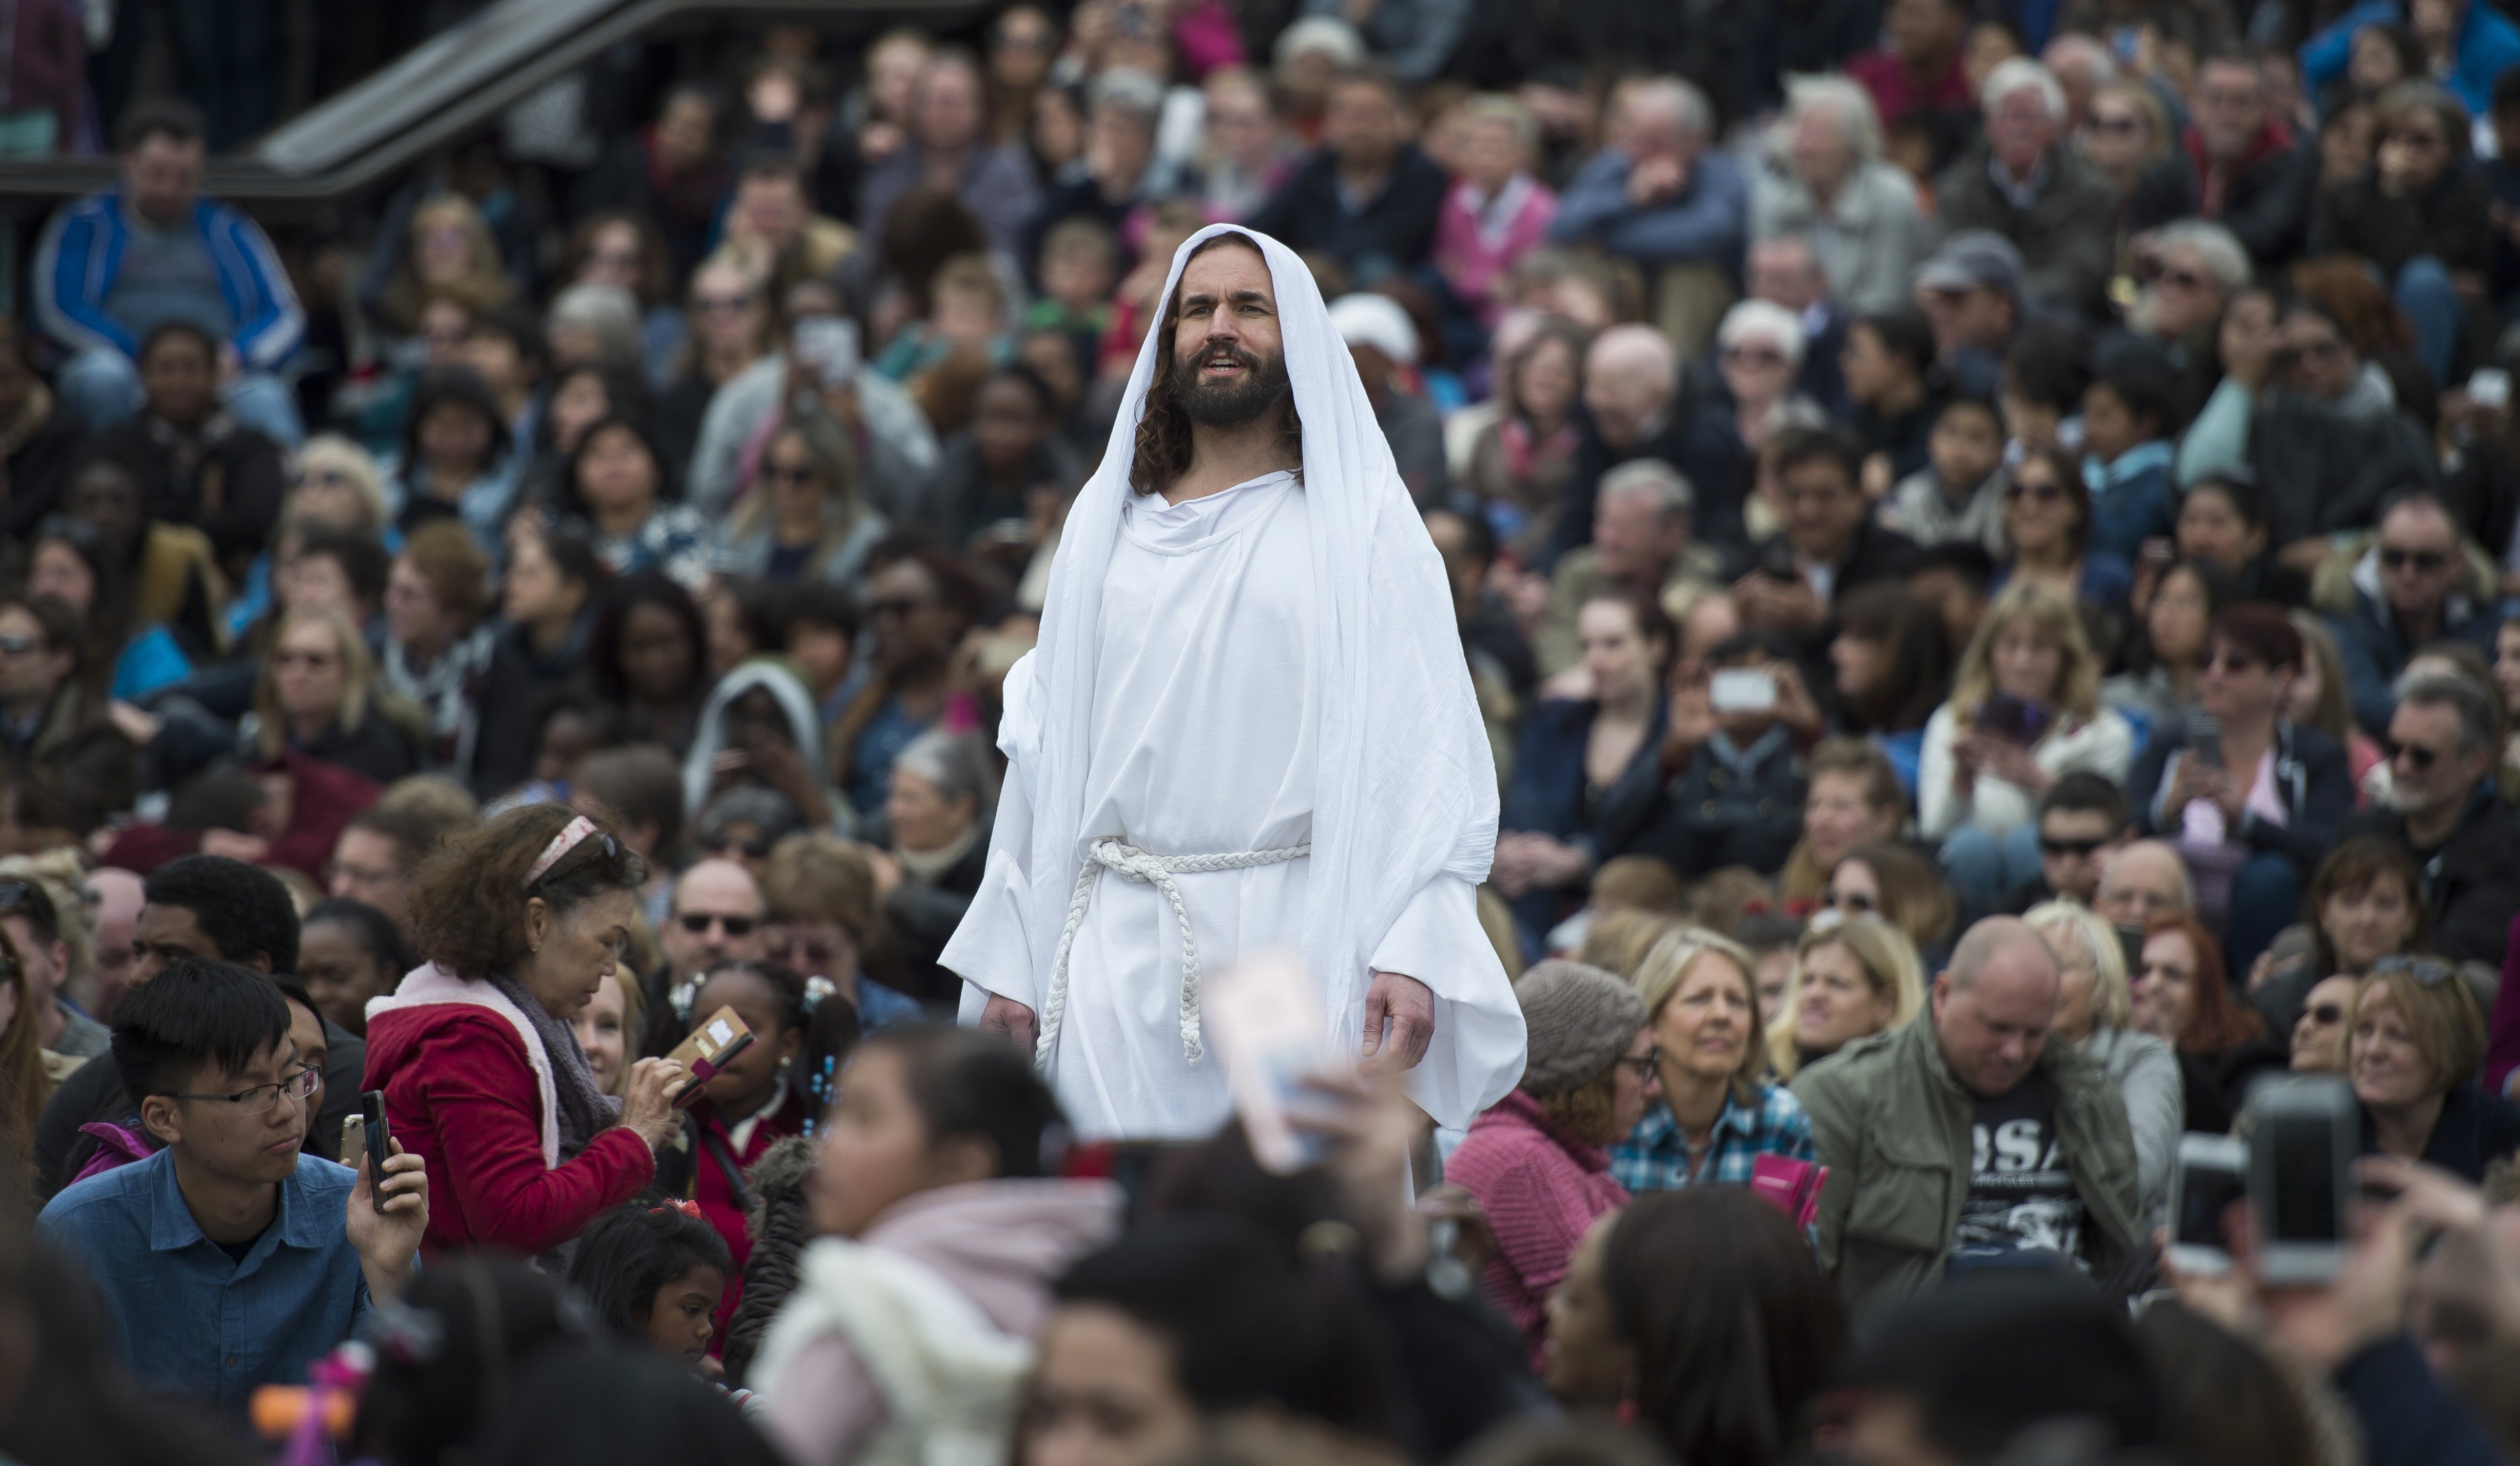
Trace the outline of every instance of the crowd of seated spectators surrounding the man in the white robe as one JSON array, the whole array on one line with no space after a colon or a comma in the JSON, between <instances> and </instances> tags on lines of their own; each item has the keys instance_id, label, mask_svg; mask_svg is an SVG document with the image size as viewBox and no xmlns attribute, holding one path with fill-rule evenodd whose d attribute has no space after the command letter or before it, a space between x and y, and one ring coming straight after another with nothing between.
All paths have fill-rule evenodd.
<instances>
[{"instance_id":1,"label":"crowd of seated spectators surrounding the man in the white robe","mask_svg":"<svg viewBox=\"0 0 2520 1466\"><path fill-rule=\"evenodd\" d=\"M121 171L0 320L0 1458L2520 1458L2495 0L748 25L340 237L76 10L0 13ZM945 962L1210 224L1441 559L1525 1025L1295 1174ZM2344 1272L2172 1267L2276 1076Z\"/></svg>"}]
</instances>

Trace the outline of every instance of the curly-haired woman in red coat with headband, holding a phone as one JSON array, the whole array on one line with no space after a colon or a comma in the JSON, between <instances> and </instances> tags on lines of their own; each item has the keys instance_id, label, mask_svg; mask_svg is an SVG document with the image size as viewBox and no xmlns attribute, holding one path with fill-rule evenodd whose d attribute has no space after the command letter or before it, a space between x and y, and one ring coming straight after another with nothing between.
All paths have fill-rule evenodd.
<instances>
[{"instance_id":1,"label":"curly-haired woman in red coat with headband, holding a phone","mask_svg":"<svg viewBox=\"0 0 2520 1466\"><path fill-rule=\"evenodd\" d=\"M643 1058L612 1098L570 1033L645 879L648 861L564 804L456 834L413 877L426 965L368 1003L368 1088L428 1161L431 1249L564 1249L655 1179L683 1068Z\"/></svg>"}]
</instances>

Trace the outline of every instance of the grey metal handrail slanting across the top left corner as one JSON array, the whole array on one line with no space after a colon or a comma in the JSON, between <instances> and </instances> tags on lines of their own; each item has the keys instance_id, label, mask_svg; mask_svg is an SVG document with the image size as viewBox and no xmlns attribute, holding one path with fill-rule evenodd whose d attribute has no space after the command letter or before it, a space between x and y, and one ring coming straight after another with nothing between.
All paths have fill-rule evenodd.
<instances>
[{"instance_id":1,"label":"grey metal handrail slanting across the top left corner","mask_svg":"<svg viewBox=\"0 0 2520 1466\"><path fill-rule=\"evenodd\" d=\"M887 10L950 25L983 0L499 0L431 35L375 76L209 159L202 189L232 202L333 199L383 181L461 139L607 45L683 13ZM0 159L0 204L111 186L111 156Z\"/></svg>"}]
</instances>

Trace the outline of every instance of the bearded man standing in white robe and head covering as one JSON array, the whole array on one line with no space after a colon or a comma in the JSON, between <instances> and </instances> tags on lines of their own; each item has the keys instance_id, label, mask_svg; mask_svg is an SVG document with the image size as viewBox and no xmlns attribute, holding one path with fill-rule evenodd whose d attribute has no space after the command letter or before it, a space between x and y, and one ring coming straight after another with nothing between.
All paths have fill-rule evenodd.
<instances>
[{"instance_id":1,"label":"bearded man standing in white robe and head covering","mask_svg":"<svg viewBox=\"0 0 2520 1466\"><path fill-rule=\"evenodd\" d=\"M1474 909L1497 781L1441 559L1290 249L1202 229L1164 300L1005 678L963 1020L1079 1136L1207 1136L1200 972L1295 950L1333 1050L1467 1126L1522 1078L1522 1010Z\"/></svg>"}]
</instances>

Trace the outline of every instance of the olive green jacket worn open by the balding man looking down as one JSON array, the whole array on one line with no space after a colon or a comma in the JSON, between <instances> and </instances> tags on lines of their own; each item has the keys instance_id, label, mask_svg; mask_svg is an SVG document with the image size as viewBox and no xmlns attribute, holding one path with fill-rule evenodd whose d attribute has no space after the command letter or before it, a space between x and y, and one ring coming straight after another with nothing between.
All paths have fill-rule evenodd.
<instances>
[{"instance_id":1,"label":"olive green jacket worn open by the balding man looking down","mask_svg":"<svg viewBox=\"0 0 2520 1466\"><path fill-rule=\"evenodd\" d=\"M2104 1275L2139 1239L2134 1139L2109 1076L2049 1040L2031 1071L2056 1111L2082 1191L2084 1262ZM1819 1191L1819 1267L1847 1310L1898 1302L1943 1277L1968 1199L1976 1101L1933 1035L1933 1010L1850 1043L1794 1078L1830 1181Z\"/></svg>"}]
</instances>

